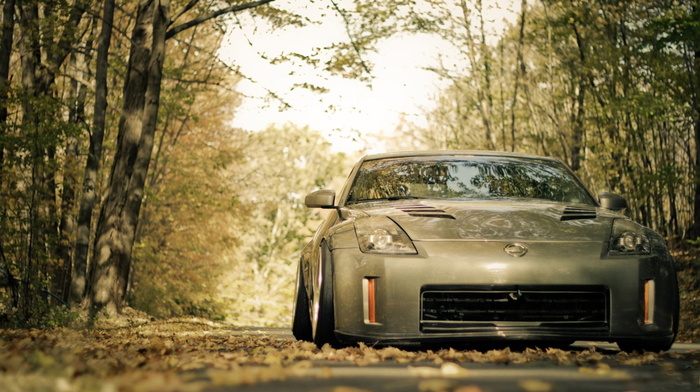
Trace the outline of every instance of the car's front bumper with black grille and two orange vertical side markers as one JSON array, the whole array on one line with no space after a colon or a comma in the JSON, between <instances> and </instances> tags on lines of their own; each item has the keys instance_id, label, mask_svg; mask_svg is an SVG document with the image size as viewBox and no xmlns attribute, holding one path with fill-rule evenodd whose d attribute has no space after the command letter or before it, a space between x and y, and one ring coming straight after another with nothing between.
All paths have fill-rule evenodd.
<instances>
[{"instance_id":1,"label":"car's front bumper with black grille and two orange vertical side markers","mask_svg":"<svg viewBox=\"0 0 700 392\"><path fill-rule=\"evenodd\" d=\"M607 245L600 242L528 243L524 257L507 255L503 249L508 243L500 241L414 244L418 249L415 256L370 255L354 248L333 250L335 332L339 340L413 344L673 337L677 288L667 254L610 257ZM436 291L457 293L456 299L449 299L452 303L464 301L465 292L488 293L488 297L500 294L491 304L478 304L483 310L480 316L462 319L459 315L443 315L435 321L427 316L430 312L425 309L424 295ZM569 315L543 319L540 316L547 314L546 304L539 306L540 316L536 317L497 314L503 311L497 302L507 301L506 295L517 297L530 292L539 292L543 300L548 292L556 293L553 296L599 293L596 301L604 305L602 310L597 304L591 308L598 309L591 319ZM456 310L444 312L459 313L470 305L454 307ZM566 308L561 303L553 305L556 307ZM582 311L587 310L579 309L578 313ZM516 313L521 310L516 309Z\"/></svg>"}]
</instances>

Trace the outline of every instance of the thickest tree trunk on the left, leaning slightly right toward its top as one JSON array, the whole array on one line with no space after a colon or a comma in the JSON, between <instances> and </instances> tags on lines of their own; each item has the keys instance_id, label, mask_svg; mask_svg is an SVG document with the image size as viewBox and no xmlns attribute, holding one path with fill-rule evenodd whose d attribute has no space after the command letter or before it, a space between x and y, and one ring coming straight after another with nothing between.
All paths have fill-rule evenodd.
<instances>
[{"instance_id":1,"label":"thickest tree trunk on the left, leaning slightly right toward its top","mask_svg":"<svg viewBox=\"0 0 700 392\"><path fill-rule=\"evenodd\" d=\"M86 305L119 312L153 147L165 55L168 0L142 0L132 34L117 151L96 228Z\"/></svg>"}]
</instances>

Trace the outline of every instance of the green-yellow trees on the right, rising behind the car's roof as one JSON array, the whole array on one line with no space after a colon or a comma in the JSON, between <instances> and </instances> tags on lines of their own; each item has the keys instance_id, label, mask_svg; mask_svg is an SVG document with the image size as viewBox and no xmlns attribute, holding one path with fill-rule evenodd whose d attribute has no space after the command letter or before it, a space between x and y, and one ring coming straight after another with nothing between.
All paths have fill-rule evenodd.
<instances>
[{"instance_id":1,"label":"green-yellow trees on the right, rising behind the car's roof","mask_svg":"<svg viewBox=\"0 0 700 392\"><path fill-rule=\"evenodd\" d=\"M627 197L635 219L682 237L695 219L695 3L522 2L492 41L481 2L452 12L457 3L421 14L463 63L434 69L452 85L428 127L409 132L428 148L556 156L594 191Z\"/></svg>"}]
</instances>

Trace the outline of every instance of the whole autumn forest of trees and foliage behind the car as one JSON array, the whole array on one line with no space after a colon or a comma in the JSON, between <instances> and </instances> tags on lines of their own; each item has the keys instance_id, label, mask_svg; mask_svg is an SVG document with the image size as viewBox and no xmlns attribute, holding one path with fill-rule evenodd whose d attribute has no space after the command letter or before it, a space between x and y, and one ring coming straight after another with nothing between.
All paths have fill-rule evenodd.
<instances>
[{"instance_id":1,"label":"whole autumn forest of trees and foliage behind the car","mask_svg":"<svg viewBox=\"0 0 700 392\"><path fill-rule=\"evenodd\" d=\"M297 257L320 219L303 197L337 186L363 151L338 153L325 130L294 124L231 126L250 77L219 48L230 29L304 29L325 15L340 16L345 40L269 61L371 83L381 42L439 37L456 53L429 67L446 87L386 145L562 159L666 237L683 312L700 314L700 1L522 0L498 35L480 0L299 5L320 4L316 20L276 3L5 0L5 323L129 306L288 325ZM296 87L320 100L328 89ZM288 105L274 89L269 98Z\"/></svg>"}]
</instances>

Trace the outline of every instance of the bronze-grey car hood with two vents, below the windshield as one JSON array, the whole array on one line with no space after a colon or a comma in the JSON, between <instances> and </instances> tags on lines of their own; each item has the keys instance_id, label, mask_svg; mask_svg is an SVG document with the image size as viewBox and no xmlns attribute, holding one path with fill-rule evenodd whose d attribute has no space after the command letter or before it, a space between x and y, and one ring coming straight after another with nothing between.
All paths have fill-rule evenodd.
<instances>
[{"instance_id":1,"label":"bronze-grey car hood with two vents, below the windshield","mask_svg":"<svg viewBox=\"0 0 700 392\"><path fill-rule=\"evenodd\" d=\"M390 217L413 241L607 241L619 217L593 206L531 200L421 200L366 205L361 211Z\"/></svg>"}]
</instances>

